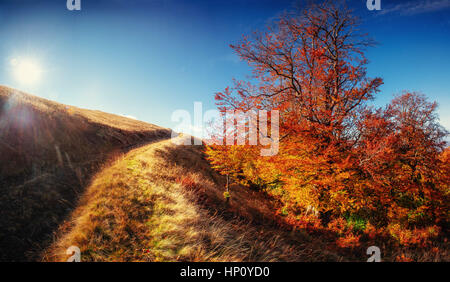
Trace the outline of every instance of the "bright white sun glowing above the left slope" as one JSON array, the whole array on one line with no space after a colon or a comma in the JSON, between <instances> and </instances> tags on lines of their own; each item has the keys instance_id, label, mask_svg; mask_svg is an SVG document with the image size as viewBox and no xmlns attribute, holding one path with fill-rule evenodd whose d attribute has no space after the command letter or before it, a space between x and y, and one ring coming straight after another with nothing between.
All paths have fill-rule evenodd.
<instances>
[{"instance_id":1,"label":"bright white sun glowing above the left slope","mask_svg":"<svg viewBox=\"0 0 450 282\"><path fill-rule=\"evenodd\" d=\"M33 59L12 59L10 61L14 78L21 84L32 85L40 82L42 68Z\"/></svg>"}]
</instances>

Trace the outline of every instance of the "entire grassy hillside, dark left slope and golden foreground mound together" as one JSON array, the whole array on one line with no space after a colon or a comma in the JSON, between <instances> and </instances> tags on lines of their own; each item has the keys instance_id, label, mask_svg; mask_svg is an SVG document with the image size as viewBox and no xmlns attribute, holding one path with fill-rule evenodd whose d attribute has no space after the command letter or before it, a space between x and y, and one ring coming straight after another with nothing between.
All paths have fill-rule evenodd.
<instances>
[{"instance_id":1,"label":"entire grassy hillside, dark left slope and golden foreground mound together","mask_svg":"<svg viewBox=\"0 0 450 282\"><path fill-rule=\"evenodd\" d=\"M0 87L0 261L365 261L364 241L298 227L280 202L211 168L180 134ZM175 141L175 142L174 142ZM383 260L440 252L378 241Z\"/></svg>"}]
</instances>

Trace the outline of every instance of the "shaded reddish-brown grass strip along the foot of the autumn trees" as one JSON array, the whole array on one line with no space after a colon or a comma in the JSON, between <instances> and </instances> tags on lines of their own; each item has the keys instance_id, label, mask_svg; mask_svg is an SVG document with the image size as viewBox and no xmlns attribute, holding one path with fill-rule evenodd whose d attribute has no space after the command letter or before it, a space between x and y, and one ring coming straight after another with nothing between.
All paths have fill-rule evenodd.
<instances>
[{"instance_id":1,"label":"shaded reddish-brown grass strip along the foot of the autumn trees","mask_svg":"<svg viewBox=\"0 0 450 282\"><path fill-rule=\"evenodd\" d=\"M367 248L378 246L385 261L396 261L403 254L410 254L415 261L448 260L448 243L432 242L430 246L400 246L386 233L367 234L353 232L350 236L331 230L327 226L294 227L292 222L276 214L280 203L268 195L254 191L242 185L230 187L231 198L227 203L223 197L225 177L214 171L206 160L203 146L170 146L159 150L157 154L172 166L181 166L184 170L200 174L201 179L211 183L199 183L189 189L195 190L197 201L210 214L225 220L234 220L251 224L263 232L279 234L285 243L301 246L301 257L291 257L292 261L359 261L369 258ZM347 234L348 235L348 234ZM353 241L352 236L359 239ZM439 249L436 253L436 249Z\"/></svg>"}]
</instances>

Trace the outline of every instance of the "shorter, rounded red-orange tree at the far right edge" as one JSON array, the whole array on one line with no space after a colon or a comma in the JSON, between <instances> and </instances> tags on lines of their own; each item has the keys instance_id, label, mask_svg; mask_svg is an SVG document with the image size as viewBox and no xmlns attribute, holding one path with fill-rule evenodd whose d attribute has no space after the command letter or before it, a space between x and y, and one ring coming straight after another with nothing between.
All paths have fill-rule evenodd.
<instances>
[{"instance_id":1,"label":"shorter, rounded red-orange tree at the far right edge","mask_svg":"<svg viewBox=\"0 0 450 282\"><path fill-rule=\"evenodd\" d=\"M448 133L436 108L424 95L405 92L363 119L357 149L368 190L362 196L370 199L366 208L386 211L389 221L424 225L446 216L448 187L441 180L450 173L442 159Z\"/></svg>"}]
</instances>

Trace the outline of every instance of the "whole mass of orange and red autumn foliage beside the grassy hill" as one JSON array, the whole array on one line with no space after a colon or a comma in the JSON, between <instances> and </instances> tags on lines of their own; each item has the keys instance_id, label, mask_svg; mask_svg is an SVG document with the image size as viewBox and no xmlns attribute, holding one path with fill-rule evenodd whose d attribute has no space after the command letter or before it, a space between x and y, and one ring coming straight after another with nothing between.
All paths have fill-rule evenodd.
<instances>
[{"instance_id":1,"label":"whole mass of orange and red autumn foliage beside the grassy hill","mask_svg":"<svg viewBox=\"0 0 450 282\"><path fill-rule=\"evenodd\" d=\"M279 110L279 153L260 156L259 145L206 153L221 173L278 199L292 225L311 225L314 210L312 222L344 236L342 246L357 244L359 229L425 244L448 224L448 133L422 94L366 105L383 81L366 77L363 51L373 42L357 25L345 7L313 4L232 45L253 79L234 81L217 104L223 113ZM349 217L358 228L349 229Z\"/></svg>"}]
</instances>

